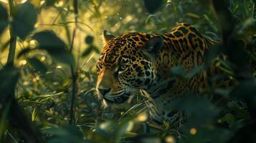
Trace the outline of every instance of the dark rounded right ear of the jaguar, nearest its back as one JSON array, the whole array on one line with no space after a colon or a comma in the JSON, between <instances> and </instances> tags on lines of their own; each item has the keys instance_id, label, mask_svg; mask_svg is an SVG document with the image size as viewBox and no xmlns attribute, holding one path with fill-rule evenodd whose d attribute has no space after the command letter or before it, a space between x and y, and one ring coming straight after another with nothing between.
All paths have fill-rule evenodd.
<instances>
[{"instance_id":1,"label":"dark rounded right ear of the jaguar, nearest its back","mask_svg":"<svg viewBox=\"0 0 256 143\"><path fill-rule=\"evenodd\" d=\"M145 46L145 49L149 54L156 55L158 54L158 51L163 49L163 38L161 36L154 36L146 41Z\"/></svg>"}]
</instances>

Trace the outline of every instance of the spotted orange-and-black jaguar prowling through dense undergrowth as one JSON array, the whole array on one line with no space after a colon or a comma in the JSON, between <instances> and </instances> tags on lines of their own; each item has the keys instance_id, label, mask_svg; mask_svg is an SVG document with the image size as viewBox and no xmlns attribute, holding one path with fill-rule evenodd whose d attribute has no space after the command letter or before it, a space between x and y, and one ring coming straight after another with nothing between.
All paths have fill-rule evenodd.
<instances>
[{"instance_id":1,"label":"spotted orange-and-black jaguar prowling through dense undergrowth","mask_svg":"<svg viewBox=\"0 0 256 143\"><path fill-rule=\"evenodd\" d=\"M122 104L134 92L142 91L151 102L152 119L173 124L181 112L165 106L185 92L199 93L209 87L207 72L189 78L170 78L174 67L184 73L204 66L209 48L217 41L203 36L194 26L180 23L166 34L131 32L113 36L103 32L105 42L96 70L96 92L103 104Z\"/></svg>"}]
</instances>

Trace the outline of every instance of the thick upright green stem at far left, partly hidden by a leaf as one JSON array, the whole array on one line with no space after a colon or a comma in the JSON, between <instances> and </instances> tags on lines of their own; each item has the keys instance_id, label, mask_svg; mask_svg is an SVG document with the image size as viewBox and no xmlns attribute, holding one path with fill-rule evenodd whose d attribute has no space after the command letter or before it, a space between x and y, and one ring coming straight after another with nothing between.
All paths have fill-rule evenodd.
<instances>
[{"instance_id":1,"label":"thick upright green stem at far left, partly hidden by a leaf","mask_svg":"<svg viewBox=\"0 0 256 143\"><path fill-rule=\"evenodd\" d=\"M9 0L9 16L13 16L14 13L14 1ZM14 64L14 56L15 56L15 49L16 49L16 35L14 34L12 27L9 26L10 32L10 44L9 44L9 54L7 58L7 64Z\"/></svg>"}]
</instances>

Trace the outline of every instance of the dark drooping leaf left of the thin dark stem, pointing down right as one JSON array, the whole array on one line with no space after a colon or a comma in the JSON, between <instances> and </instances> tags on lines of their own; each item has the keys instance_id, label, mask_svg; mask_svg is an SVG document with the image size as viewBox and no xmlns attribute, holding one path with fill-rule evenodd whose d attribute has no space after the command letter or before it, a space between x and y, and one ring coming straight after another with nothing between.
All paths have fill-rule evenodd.
<instances>
[{"instance_id":1,"label":"dark drooping leaf left of the thin dark stem, pointing down right","mask_svg":"<svg viewBox=\"0 0 256 143\"><path fill-rule=\"evenodd\" d=\"M37 49L44 49L58 61L64 64L73 64L74 57L65 49L65 43L54 34L53 31L40 31L34 34L33 39L37 40Z\"/></svg>"}]
</instances>

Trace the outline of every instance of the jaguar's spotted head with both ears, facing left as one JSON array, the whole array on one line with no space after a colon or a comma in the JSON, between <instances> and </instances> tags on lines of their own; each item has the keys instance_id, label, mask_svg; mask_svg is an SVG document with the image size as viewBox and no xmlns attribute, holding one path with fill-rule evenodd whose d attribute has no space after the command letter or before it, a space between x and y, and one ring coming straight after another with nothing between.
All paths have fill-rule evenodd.
<instances>
[{"instance_id":1,"label":"jaguar's spotted head with both ears, facing left","mask_svg":"<svg viewBox=\"0 0 256 143\"><path fill-rule=\"evenodd\" d=\"M125 102L133 92L156 84L161 36L129 33L113 36L104 31L105 46L98 59L96 91L103 104Z\"/></svg>"}]
</instances>

